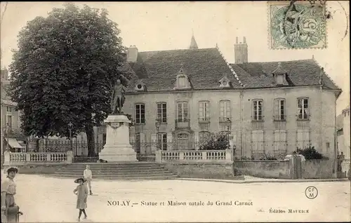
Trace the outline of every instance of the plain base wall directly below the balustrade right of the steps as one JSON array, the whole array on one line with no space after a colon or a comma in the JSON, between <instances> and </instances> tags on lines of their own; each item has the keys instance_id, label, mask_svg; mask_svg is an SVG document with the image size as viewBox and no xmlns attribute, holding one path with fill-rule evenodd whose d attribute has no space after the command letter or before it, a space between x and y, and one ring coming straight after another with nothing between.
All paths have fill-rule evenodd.
<instances>
[{"instance_id":1,"label":"plain base wall directly below the balustrade right of the steps","mask_svg":"<svg viewBox=\"0 0 351 223\"><path fill-rule=\"evenodd\" d=\"M244 179L233 175L232 162L228 163L205 163L205 162L168 162L162 163L164 167L185 178L206 179Z\"/></svg>"}]
</instances>

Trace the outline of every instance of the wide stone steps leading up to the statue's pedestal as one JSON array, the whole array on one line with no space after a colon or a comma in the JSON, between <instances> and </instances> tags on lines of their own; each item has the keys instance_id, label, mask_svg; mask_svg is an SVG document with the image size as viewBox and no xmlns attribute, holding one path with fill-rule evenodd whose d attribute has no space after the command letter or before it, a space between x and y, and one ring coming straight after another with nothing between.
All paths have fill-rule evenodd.
<instances>
[{"instance_id":1,"label":"wide stone steps leading up to the statue's pedestal","mask_svg":"<svg viewBox=\"0 0 351 223\"><path fill-rule=\"evenodd\" d=\"M82 177L86 165L90 165L93 179L104 180L166 180L178 177L157 163L72 163L59 168L51 176Z\"/></svg>"}]
</instances>

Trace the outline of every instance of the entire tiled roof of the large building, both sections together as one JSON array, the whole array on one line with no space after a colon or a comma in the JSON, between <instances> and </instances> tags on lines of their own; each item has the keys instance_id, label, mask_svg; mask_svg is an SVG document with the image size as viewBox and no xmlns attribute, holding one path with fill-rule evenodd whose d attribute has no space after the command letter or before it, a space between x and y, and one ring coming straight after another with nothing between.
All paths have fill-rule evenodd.
<instances>
[{"instance_id":1,"label":"entire tiled roof of the large building, both sections together","mask_svg":"<svg viewBox=\"0 0 351 223\"><path fill-rule=\"evenodd\" d=\"M232 89L241 88L275 88L272 72L286 72L288 86L318 86L322 67L311 60L293 60L280 62L248 62L230 64L242 87L218 48L163 50L139 52L138 60L129 63L134 77L129 81L126 92L135 93L137 83L145 84L148 92L173 90L176 76L181 67L190 78L192 90L209 90L220 88L220 79L227 76ZM140 80L140 81L139 81ZM322 72L325 89L340 90L338 86Z\"/></svg>"}]
</instances>

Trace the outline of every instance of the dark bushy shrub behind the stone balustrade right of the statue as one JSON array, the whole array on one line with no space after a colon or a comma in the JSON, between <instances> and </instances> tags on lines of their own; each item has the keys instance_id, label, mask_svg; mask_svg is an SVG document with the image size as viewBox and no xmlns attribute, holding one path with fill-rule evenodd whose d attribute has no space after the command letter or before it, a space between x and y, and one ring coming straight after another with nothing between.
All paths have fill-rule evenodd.
<instances>
[{"instance_id":1,"label":"dark bushy shrub behind the stone balustrade right of the statue","mask_svg":"<svg viewBox=\"0 0 351 223\"><path fill-rule=\"evenodd\" d=\"M209 133L199 144L200 150L225 150L228 149L227 133Z\"/></svg>"}]
</instances>

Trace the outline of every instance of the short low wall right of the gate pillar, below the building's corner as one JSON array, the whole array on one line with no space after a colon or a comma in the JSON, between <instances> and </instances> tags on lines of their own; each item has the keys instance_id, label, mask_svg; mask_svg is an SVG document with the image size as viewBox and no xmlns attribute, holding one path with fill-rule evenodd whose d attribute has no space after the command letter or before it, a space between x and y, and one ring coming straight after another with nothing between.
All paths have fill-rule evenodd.
<instances>
[{"instance_id":1,"label":"short low wall right of the gate pillar, below the building's corner","mask_svg":"<svg viewBox=\"0 0 351 223\"><path fill-rule=\"evenodd\" d=\"M302 176L304 179L333 178L334 163L335 161L328 159L306 160L302 166Z\"/></svg>"}]
</instances>

